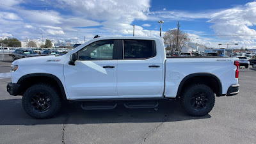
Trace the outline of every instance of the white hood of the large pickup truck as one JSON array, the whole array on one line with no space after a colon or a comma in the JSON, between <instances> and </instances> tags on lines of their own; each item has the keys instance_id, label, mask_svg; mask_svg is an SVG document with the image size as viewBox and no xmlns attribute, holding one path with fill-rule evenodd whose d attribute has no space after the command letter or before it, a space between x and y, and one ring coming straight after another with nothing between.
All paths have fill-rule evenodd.
<instances>
[{"instance_id":1,"label":"white hood of the large pickup truck","mask_svg":"<svg viewBox=\"0 0 256 144\"><path fill-rule=\"evenodd\" d=\"M34 56L29 58L21 58L12 62L12 65L35 65L35 64L51 64L52 62L64 63L63 56Z\"/></svg>"}]
</instances>

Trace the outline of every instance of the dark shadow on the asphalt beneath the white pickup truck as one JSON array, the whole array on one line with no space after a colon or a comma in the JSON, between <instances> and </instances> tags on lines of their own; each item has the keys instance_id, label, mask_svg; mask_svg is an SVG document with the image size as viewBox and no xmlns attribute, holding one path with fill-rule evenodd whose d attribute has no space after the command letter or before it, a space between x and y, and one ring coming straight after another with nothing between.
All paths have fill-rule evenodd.
<instances>
[{"instance_id":1,"label":"dark shadow on the asphalt beneath the white pickup truck","mask_svg":"<svg viewBox=\"0 0 256 144\"><path fill-rule=\"evenodd\" d=\"M84 111L77 103L65 103L58 115L39 120L24 112L21 99L8 99L0 100L0 115L0 125L154 123L211 118L210 115L187 115L178 101L159 102L155 109L127 109L117 106L111 110L90 111Z\"/></svg>"}]
</instances>

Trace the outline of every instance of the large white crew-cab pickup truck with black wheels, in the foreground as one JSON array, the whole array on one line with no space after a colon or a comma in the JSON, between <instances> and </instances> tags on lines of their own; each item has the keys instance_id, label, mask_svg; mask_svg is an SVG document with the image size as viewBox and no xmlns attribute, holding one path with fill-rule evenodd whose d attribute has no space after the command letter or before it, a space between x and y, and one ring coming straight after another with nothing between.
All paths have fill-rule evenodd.
<instances>
[{"instance_id":1,"label":"large white crew-cab pickup truck with black wheels, in the foreground","mask_svg":"<svg viewBox=\"0 0 256 144\"><path fill-rule=\"evenodd\" d=\"M7 91L22 95L34 118L50 118L61 101L83 109L156 108L179 99L192 116L211 111L215 95L239 92L237 58L166 58L161 38L94 38L63 56L38 56L12 63Z\"/></svg>"}]
</instances>

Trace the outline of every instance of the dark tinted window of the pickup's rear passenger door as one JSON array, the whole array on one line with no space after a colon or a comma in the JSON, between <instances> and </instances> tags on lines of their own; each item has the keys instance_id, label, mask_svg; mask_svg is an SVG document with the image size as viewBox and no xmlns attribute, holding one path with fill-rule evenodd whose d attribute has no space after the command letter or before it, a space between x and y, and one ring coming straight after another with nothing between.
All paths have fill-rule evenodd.
<instances>
[{"instance_id":1,"label":"dark tinted window of the pickup's rear passenger door","mask_svg":"<svg viewBox=\"0 0 256 144\"><path fill-rule=\"evenodd\" d=\"M124 59L147 59L156 56L154 40L124 40Z\"/></svg>"}]
</instances>

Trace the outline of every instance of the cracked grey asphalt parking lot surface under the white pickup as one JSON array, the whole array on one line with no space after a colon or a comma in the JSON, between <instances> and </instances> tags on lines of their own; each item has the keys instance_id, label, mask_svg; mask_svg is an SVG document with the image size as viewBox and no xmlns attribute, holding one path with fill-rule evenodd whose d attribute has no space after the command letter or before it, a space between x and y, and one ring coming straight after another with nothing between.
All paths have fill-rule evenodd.
<instances>
[{"instance_id":1,"label":"cracked grey asphalt parking lot surface under the white pickup","mask_svg":"<svg viewBox=\"0 0 256 144\"><path fill-rule=\"evenodd\" d=\"M84 111L65 103L54 118L36 120L24 112L20 96L6 92L11 58L0 61L0 143L255 143L256 68L240 69L240 92L217 97L211 113L188 116L179 102L156 109Z\"/></svg>"}]
</instances>

